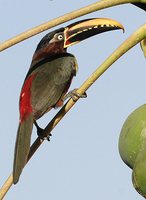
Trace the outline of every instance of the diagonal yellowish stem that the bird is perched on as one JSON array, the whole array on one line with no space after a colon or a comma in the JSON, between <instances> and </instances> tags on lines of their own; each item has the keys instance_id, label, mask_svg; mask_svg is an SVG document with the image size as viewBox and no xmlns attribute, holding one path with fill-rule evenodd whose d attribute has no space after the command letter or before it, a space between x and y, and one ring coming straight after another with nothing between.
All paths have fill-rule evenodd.
<instances>
[{"instance_id":1,"label":"diagonal yellowish stem that the bird is perched on","mask_svg":"<svg viewBox=\"0 0 146 200\"><path fill-rule=\"evenodd\" d=\"M146 24L140 27L135 33L133 33L127 40L125 40L114 52L109 56L102 65L100 65L96 71L81 85L81 87L77 90L79 94L84 94L85 91L117 60L119 59L124 53L130 50L133 46L139 43L141 40L146 38ZM76 102L78 101L78 97L76 97ZM55 126L60 122L60 120L65 116L65 114L74 106L76 103L72 99L70 99L56 114L56 116L50 121L50 123L46 126L44 133L48 135ZM32 144L30 149L30 154L28 161L36 152L36 150L41 145L41 141L39 138ZM12 175L9 176L7 181L4 183L0 190L0 200L6 195L8 190L13 184L13 177Z\"/></svg>"}]
</instances>

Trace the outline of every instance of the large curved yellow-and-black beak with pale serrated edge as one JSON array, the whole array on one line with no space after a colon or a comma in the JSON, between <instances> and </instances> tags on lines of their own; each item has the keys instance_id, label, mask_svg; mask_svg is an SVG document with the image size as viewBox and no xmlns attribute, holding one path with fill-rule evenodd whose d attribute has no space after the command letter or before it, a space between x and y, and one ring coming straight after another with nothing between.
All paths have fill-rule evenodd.
<instances>
[{"instance_id":1,"label":"large curved yellow-and-black beak with pale serrated edge","mask_svg":"<svg viewBox=\"0 0 146 200\"><path fill-rule=\"evenodd\" d=\"M64 30L64 48L106 31L122 29L119 22L107 18L86 19L67 26Z\"/></svg>"}]
</instances>

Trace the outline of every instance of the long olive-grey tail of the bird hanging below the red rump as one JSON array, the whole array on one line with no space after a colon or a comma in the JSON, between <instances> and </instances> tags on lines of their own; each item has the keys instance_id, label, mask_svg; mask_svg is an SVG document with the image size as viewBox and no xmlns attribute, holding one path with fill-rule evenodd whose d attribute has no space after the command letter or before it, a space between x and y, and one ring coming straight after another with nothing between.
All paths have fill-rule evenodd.
<instances>
[{"instance_id":1,"label":"long olive-grey tail of the bird hanging below the red rump","mask_svg":"<svg viewBox=\"0 0 146 200\"><path fill-rule=\"evenodd\" d=\"M19 123L14 153L13 183L16 184L27 162L33 128L33 116L30 114Z\"/></svg>"}]
</instances>

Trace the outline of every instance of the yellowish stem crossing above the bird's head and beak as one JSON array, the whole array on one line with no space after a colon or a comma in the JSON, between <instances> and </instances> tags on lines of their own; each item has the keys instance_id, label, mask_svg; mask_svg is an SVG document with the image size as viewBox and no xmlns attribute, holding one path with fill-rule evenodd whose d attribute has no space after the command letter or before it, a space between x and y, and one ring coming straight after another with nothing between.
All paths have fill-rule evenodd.
<instances>
[{"instance_id":1,"label":"yellowish stem crossing above the bird's head and beak","mask_svg":"<svg viewBox=\"0 0 146 200\"><path fill-rule=\"evenodd\" d=\"M36 26L34 28L31 28L3 43L0 44L0 52L19 43L22 42L23 40L26 40L38 33L41 33L45 30L48 30L52 27L55 27L59 24L62 24L64 22L67 22L69 20L75 19L77 17L81 17L83 15L95 12L97 10L101 10L101 9L105 9L105 8L109 8L111 6L116 6L116 5L120 5L120 4L125 4L125 3L145 3L146 4L146 0L104 0L104 1L99 1L93 4L90 4L86 7L83 7L79 10L70 12L68 14L65 14L61 17L55 18L53 20L50 20L44 24L41 24L39 26Z\"/></svg>"}]
</instances>

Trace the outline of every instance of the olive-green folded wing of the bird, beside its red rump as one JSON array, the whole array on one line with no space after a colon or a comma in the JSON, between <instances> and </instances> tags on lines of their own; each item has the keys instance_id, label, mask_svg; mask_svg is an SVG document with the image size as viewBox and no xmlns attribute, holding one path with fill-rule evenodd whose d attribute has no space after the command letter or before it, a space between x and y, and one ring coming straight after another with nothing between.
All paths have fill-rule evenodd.
<instances>
[{"instance_id":1,"label":"olive-green folded wing of the bird, beside its red rump","mask_svg":"<svg viewBox=\"0 0 146 200\"><path fill-rule=\"evenodd\" d=\"M31 102L36 119L54 107L67 92L76 69L76 59L67 56L44 62L33 71L36 77L32 84Z\"/></svg>"}]
</instances>

